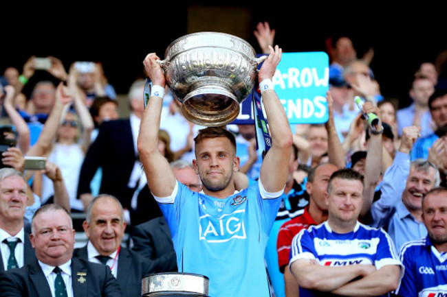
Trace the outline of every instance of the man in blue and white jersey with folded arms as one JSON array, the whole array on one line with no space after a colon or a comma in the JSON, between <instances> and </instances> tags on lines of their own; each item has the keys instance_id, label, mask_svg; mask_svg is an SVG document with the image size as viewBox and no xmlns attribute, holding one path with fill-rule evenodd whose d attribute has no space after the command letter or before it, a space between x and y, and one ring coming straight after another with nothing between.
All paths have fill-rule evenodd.
<instances>
[{"instance_id":1,"label":"man in blue and white jersey with folded arms","mask_svg":"<svg viewBox=\"0 0 447 297\"><path fill-rule=\"evenodd\" d=\"M292 241L290 271L300 296L380 296L396 289L403 272L389 235L358 222L363 176L353 169L331 175L328 219Z\"/></svg>"}]
</instances>

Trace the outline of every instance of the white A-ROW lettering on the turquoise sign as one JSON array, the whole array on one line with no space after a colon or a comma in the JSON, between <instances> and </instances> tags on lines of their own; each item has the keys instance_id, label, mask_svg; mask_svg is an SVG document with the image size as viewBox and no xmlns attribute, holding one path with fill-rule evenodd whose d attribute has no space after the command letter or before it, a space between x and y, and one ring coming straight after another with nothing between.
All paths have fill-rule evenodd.
<instances>
[{"instance_id":1,"label":"white A-ROW lettering on the turquoise sign","mask_svg":"<svg viewBox=\"0 0 447 297\"><path fill-rule=\"evenodd\" d=\"M329 82L329 68L325 68L322 78L318 76L316 68L289 68L287 73L281 73L276 69L273 79L273 86L279 86L281 89L287 88L308 88L309 86L327 86Z\"/></svg>"}]
</instances>

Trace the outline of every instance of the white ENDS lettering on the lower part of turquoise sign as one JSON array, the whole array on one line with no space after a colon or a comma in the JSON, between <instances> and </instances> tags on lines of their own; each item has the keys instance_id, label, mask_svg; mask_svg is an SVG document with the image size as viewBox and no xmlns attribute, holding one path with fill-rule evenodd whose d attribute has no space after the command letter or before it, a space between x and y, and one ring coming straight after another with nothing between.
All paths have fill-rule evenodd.
<instances>
[{"instance_id":1,"label":"white ENDS lettering on the lower part of turquoise sign","mask_svg":"<svg viewBox=\"0 0 447 297\"><path fill-rule=\"evenodd\" d=\"M326 98L323 96L316 96L311 99L281 99L288 119L308 119L310 117L322 118L326 114Z\"/></svg>"}]
</instances>

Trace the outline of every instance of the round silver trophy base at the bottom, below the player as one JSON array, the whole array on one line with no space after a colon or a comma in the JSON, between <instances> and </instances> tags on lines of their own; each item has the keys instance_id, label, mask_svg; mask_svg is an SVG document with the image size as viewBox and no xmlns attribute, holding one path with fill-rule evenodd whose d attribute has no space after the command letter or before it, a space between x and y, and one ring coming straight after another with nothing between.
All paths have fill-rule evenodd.
<instances>
[{"instance_id":1,"label":"round silver trophy base at the bottom, below the player","mask_svg":"<svg viewBox=\"0 0 447 297\"><path fill-rule=\"evenodd\" d=\"M209 279L201 274L166 272L146 276L142 280L144 297L209 297Z\"/></svg>"}]
</instances>

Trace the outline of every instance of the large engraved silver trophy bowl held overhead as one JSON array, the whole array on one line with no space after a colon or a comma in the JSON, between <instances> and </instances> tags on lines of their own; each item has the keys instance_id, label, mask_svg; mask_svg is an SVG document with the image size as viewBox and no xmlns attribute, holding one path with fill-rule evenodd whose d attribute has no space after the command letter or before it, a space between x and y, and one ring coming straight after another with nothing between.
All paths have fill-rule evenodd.
<instances>
[{"instance_id":1,"label":"large engraved silver trophy bowl held overhead","mask_svg":"<svg viewBox=\"0 0 447 297\"><path fill-rule=\"evenodd\" d=\"M199 32L176 39L159 60L166 83L182 102L189 121L201 126L223 126L239 115L239 104L252 91L256 58L245 40L219 32Z\"/></svg>"}]
</instances>

